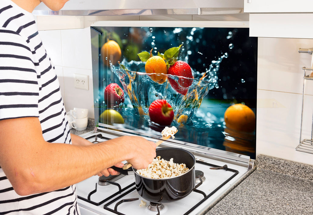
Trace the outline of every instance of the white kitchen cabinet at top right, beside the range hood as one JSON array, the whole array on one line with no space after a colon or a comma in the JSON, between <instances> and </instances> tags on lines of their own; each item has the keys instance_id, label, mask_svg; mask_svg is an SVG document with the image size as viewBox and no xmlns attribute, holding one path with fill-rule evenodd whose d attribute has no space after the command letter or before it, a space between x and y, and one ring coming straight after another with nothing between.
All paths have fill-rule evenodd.
<instances>
[{"instance_id":1,"label":"white kitchen cabinet at top right, beside the range hood","mask_svg":"<svg viewBox=\"0 0 313 215\"><path fill-rule=\"evenodd\" d=\"M311 0L244 0L244 13L252 37L313 38Z\"/></svg>"}]
</instances>

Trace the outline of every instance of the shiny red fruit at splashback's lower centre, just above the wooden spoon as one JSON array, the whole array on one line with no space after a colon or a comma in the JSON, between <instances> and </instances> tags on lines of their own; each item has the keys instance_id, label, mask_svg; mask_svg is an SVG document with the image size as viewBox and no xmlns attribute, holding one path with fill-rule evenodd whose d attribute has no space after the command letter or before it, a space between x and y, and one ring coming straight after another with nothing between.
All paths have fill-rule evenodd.
<instances>
[{"instance_id":1,"label":"shiny red fruit at splashback's lower centre, just above the wooden spoon","mask_svg":"<svg viewBox=\"0 0 313 215\"><path fill-rule=\"evenodd\" d=\"M149 106L149 116L151 122L159 125L171 125L174 118L173 108L164 99L158 99Z\"/></svg>"}]
</instances>

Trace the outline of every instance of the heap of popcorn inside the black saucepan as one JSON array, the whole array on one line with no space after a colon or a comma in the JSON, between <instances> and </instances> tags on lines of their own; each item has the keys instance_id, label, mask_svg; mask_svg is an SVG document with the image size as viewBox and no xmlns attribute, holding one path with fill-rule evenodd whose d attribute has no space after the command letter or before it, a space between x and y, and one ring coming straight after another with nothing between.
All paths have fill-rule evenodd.
<instances>
[{"instance_id":1,"label":"heap of popcorn inside the black saucepan","mask_svg":"<svg viewBox=\"0 0 313 215\"><path fill-rule=\"evenodd\" d=\"M152 163L149 164L148 168L140 169L136 172L139 175L148 178L169 178L179 176L187 172L189 168L186 167L186 164L177 164L173 162L173 158L170 161L166 161L161 156L157 156L153 159Z\"/></svg>"}]
</instances>

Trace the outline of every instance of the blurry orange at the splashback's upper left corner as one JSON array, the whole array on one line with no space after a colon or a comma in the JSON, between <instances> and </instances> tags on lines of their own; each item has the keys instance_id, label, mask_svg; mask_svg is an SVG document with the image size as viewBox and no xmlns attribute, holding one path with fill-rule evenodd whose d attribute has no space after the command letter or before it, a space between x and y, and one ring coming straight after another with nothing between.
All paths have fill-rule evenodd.
<instances>
[{"instance_id":1,"label":"blurry orange at the splashback's upper left corner","mask_svg":"<svg viewBox=\"0 0 313 215\"><path fill-rule=\"evenodd\" d=\"M102 59L107 66L110 66L110 61L112 65L115 65L117 61L121 59L121 55L121 48L114 40L109 40L108 42L103 44Z\"/></svg>"}]
</instances>

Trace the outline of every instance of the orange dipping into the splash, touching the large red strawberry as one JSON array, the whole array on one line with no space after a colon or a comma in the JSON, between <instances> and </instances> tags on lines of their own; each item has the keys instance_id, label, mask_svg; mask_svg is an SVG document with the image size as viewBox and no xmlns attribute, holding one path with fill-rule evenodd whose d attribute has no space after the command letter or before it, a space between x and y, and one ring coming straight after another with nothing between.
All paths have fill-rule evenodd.
<instances>
[{"instance_id":1,"label":"orange dipping into the splash, touching the large red strawberry","mask_svg":"<svg viewBox=\"0 0 313 215\"><path fill-rule=\"evenodd\" d=\"M145 65L146 73L156 73L151 74L151 79L155 82L162 84L166 81L166 75L167 74L167 66L163 58L160 56L152 56L149 58Z\"/></svg>"}]
</instances>

